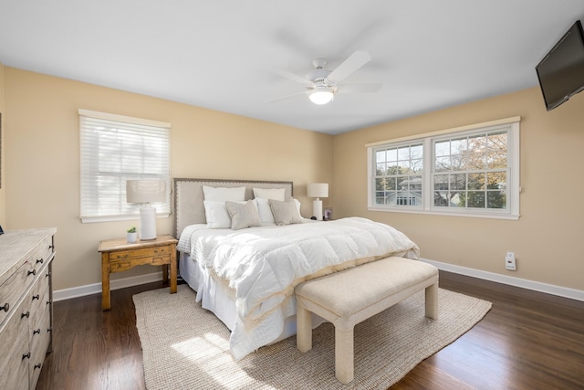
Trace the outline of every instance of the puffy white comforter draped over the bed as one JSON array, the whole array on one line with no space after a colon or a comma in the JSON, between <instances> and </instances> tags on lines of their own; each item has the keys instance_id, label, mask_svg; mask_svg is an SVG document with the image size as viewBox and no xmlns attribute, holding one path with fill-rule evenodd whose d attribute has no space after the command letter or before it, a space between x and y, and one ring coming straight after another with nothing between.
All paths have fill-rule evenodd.
<instances>
[{"instance_id":1,"label":"puffy white comforter draped over the bed","mask_svg":"<svg viewBox=\"0 0 584 390\"><path fill-rule=\"evenodd\" d=\"M178 248L235 290L235 359L276 340L284 319L295 313L298 283L382 255L419 255L400 231L360 217L243 230L204 227L185 228Z\"/></svg>"}]
</instances>

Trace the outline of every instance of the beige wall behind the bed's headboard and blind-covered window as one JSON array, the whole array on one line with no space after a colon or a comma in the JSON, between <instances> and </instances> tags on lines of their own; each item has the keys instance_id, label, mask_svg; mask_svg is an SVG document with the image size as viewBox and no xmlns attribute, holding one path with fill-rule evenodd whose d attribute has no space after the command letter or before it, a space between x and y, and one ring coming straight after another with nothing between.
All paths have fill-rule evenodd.
<instances>
[{"instance_id":1,"label":"beige wall behind the bed's headboard and blind-covered window","mask_svg":"<svg viewBox=\"0 0 584 390\"><path fill-rule=\"evenodd\" d=\"M172 177L293 181L305 216L311 214L306 184L332 180L329 135L4 70L5 227L57 227L55 290L99 283L99 240L124 237L125 229L135 225L79 220L79 108L171 122ZM172 217L158 220L158 232L172 233ZM159 270L144 266L112 279Z\"/></svg>"}]
</instances>

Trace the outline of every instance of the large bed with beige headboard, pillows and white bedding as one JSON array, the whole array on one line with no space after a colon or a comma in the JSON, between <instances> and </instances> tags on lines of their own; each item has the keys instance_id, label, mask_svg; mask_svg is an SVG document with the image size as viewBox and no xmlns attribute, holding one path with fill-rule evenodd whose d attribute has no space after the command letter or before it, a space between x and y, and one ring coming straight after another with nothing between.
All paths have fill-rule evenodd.
<instances>
[{"instance_id":1,"label":"large bed with beige headboard, pillows and white bedding","mask_svg":"<svg viewBox=\"0 0 584 390\"><path fill-rule=\"evenodd\" d=\"M393 227L313 221L299 210L291 182L174 179L180 275L231 331L235 359L296 333L298 283L387 256L418 258Z\"/></svg>"}]
</instances>

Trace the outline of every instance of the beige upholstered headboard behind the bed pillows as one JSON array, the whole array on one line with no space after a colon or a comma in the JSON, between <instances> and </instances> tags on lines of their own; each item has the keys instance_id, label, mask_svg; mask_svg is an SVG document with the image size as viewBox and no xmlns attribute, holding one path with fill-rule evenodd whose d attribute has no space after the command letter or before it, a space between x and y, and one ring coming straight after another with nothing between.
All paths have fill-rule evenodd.
<instances>
[{"instance_id":1,"label":"beige upholstered headboard behind the bed pillows","mask_svg":"<svg viewBox=\"0 0 584 390\"><path fill-rule=\"evenodd\" d=\"M174 179L174 237L181 237L184 227L206 224L203 205L203 185L211 187L244 187L245 199L253 199L253 188L285 188L292 196L292 182L267 182L223 179Z\"/></svg>"}]
</instances>

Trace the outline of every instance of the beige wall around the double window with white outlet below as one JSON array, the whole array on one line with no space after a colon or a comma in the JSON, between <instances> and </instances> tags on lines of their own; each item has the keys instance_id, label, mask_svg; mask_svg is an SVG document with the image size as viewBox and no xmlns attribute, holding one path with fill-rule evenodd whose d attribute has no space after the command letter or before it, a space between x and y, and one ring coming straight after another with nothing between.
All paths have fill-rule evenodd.
<instances>
[{"instance_id":1,"label":"beige wall around the double window with white outlet below","mask_svg":"<svg viewBox=\"0 0 584 390\"><path fill-rule=\"evenodd\" d=\"M513 116L522 118L518 221L367 210L365 143ZM584 93L547 112L533 88L341 134L334 167L336 216L397 227L423 258L584 290ZM507 251L516 253L515 272L505 269Z\"/></svg>"}]
</instances>

